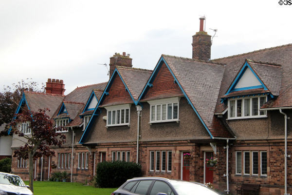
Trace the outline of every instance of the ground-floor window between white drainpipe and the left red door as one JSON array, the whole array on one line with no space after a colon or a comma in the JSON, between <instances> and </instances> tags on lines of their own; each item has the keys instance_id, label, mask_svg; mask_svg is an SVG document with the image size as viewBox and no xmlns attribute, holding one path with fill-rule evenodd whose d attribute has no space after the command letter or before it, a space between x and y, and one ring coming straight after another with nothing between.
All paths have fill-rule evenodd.
<instances>
[{"instance_id":1,"label":"ground-floor window between white drainpipe and the left red door","mask_svg":"<svg viewBox=\"0 0 292 195\"><path fill-rule=\"evenodd\" d=\"M150 151L149 170L156 172L171 172L172 151Z\"/></svg>"}]
</instances>

